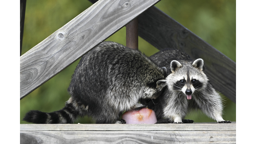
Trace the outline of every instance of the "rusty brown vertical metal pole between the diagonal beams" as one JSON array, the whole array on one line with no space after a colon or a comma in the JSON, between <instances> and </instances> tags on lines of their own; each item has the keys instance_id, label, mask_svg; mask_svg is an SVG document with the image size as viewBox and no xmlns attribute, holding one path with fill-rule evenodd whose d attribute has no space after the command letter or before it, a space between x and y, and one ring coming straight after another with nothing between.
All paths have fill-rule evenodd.
<instances>
[{"instance_id":1,"label":"rusty brown vertical metal pole between the diagonal beams","mask_svg":"<svg viewBox=\"0 0 256 144\"><path fill-rule=\"evenodd\" d=\"M138 18L133 19L126 25L126 46L138 49Z\"/></svg>"}]
</instances>

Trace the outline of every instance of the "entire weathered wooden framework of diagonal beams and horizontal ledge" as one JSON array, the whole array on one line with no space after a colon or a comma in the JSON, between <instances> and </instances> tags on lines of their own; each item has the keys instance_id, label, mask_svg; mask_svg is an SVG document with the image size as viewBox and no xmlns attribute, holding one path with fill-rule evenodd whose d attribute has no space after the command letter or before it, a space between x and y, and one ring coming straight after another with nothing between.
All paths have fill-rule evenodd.
<instances>
[{"instance_id":1,"label":"entire weathered wooden framework of diagonal beams and horizontal ledge","mask_svg":"<svg viewBox=\"0 0 256 144\"><path fill-rule=\"evenodd\" d=\"M20 99L136 19L135 24L138 21L138 35L159 50L176 47L188 53L192 58L204 59L207 69L206 75L212 85L233 102L236 102L236 63L154 7L153 5L160 0L90 1L94 3L91 7L20 56ZM21 5L23 3L21 1ZM21 9L21 21L24 17L23 10L25 7ZM22 22L21 25L23 25ZM21 27L22 34L23 26ZM72 140L74 139L77 143L96 142L99 137L106 138L106 142L143 140L144 143L168 143L168 141L178 143L194 141L194 136L198 137L194 142L233 141L235 143L236 133L236 123L21 124L20 126L21 143L73 143Z\"/></svg>"}]
</instances>

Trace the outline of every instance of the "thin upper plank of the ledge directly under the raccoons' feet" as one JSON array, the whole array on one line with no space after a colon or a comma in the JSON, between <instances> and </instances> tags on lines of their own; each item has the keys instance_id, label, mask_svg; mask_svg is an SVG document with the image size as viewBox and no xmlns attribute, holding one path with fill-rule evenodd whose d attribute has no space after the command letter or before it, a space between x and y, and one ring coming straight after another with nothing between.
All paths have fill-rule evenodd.
<instances>
[{"instance_id":1,"label":"thin upper plank of the ledge directly under the raccoons' feet","mask_svg":"<svg viewBox=\"0 0 256 144\"><path fill-rule=\"evenodd\" d=\"M236 130L236 123L193 124L20 124L21 131L225 131Z\"/></svg>"}]
</instances>

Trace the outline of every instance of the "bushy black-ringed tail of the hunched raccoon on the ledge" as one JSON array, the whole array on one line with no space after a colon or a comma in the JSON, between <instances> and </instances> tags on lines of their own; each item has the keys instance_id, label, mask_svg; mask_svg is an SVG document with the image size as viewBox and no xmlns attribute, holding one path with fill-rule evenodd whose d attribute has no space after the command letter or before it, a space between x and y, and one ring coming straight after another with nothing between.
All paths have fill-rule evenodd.
<instances>
[{"instance_id":1,"label":"bushy black-ringed tail of the hunched raccoon on the ledge","mask_svg":"<svg viewBox=\"0 0 256 144\"><path fill-rule=\"evenodd\" d=\"M35 124L72 124L79 116L79 112L71 103L66 103L66 106L58 111L51 113L31 110L26 113L24 121Z\"/></svg>"}]
</instances>

